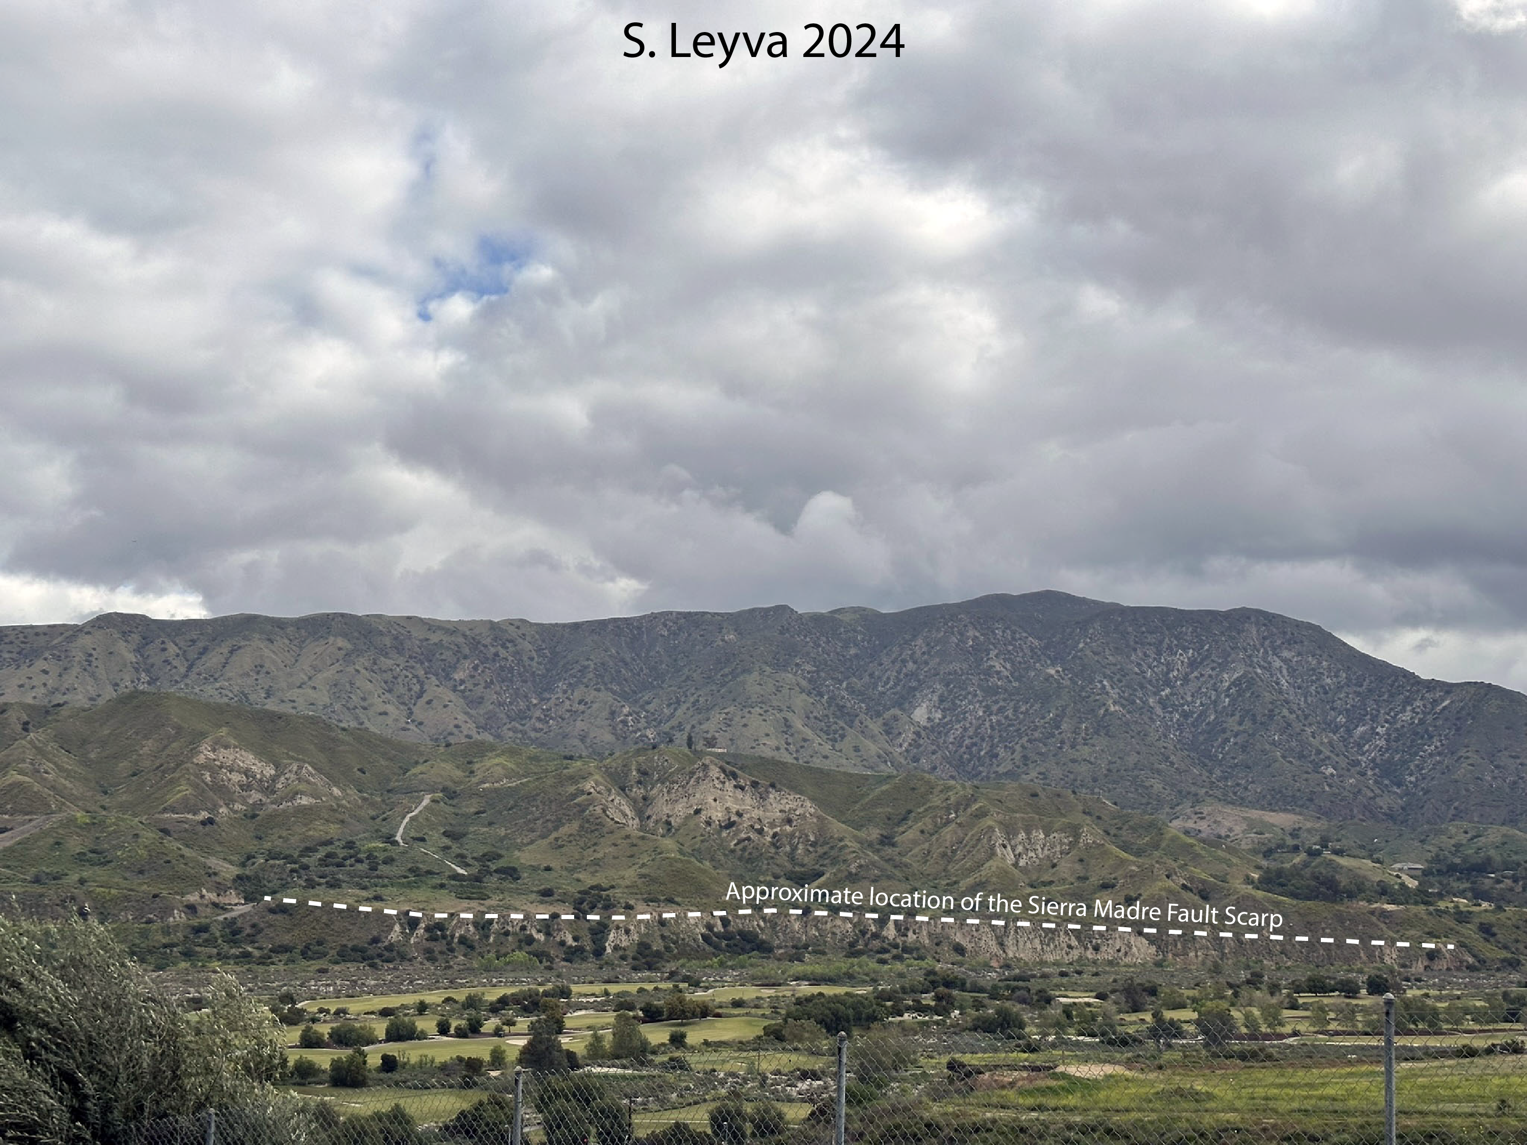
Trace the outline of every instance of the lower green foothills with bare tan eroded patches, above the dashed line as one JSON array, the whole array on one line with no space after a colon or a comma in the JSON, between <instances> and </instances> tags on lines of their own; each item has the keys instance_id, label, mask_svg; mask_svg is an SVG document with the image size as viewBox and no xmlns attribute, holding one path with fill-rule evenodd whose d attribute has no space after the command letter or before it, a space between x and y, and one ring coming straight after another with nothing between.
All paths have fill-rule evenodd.
<instances>
[{"instance_id":1,"label":"lower green foothills with bare tan eroded patches, above the dashed line","mask_svg":"<svg viewBox=\"0 0 1527 1145\"><path fill-rule=\"evenodd\" d=\"M1012 893L1228 885L1254 867L1101 800L1029 785L678 747L603 760L446 748L163 693L81 710L8 705L0 719L17 728L0 751L0 821L29 832L9 846L0 835L0 878L32 885L43 872L124 895L296 889L450 902L568 902L605 887L692 904L719 899L733 879ZM133 847L84 843L127 824ZM150 843L176 860L145 866Z\"/></svg>"}]
</instances>

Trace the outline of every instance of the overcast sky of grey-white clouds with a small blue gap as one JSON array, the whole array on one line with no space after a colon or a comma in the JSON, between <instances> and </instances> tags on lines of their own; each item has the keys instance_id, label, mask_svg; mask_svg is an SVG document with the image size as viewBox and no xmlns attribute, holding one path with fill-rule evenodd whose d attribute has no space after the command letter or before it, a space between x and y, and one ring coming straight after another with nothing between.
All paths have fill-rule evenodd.
<instances>
[{"instance_id":1,"label":"overcast sky of grey-white clouds with a small blue gap","mask_svg":"<svg viewBox=\"0 0 1527 1145\"><path fill-rule=\"evenodd\" d=\"M1061 588L1527 689L1527 8L8 0L0 391L5 623Z\"/></svg>"}]
</instances>

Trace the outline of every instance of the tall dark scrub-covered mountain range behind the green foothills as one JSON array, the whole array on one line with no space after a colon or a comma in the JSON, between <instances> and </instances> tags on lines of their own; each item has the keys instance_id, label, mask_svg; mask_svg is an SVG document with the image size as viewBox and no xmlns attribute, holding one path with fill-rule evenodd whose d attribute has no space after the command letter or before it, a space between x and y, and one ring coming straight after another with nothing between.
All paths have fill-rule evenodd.
<instances>
[{"instance_id":1,"label":"tall dark scrub-covered mountain range behind the green foothills","mask_svg":"<svg viewBox=\"0 0 1527 1145\"><path fill-rule=\"evenodd\" d=\"M875 612L571 624L319 614L0 629L0 701L174 692L417 742L609 756L687 743L1025 780L1157 814L1521 826L1527 696L1448 684L1257 609L1061 592Z\"/></svg>"}]
</instances>

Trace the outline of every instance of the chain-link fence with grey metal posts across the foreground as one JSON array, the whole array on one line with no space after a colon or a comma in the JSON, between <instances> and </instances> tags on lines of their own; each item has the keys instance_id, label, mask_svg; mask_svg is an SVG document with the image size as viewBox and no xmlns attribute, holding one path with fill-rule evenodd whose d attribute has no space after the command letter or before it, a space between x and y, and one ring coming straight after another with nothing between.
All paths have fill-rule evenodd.
<instances>
[{"instance_id":1,"label":"chain-link fence with grey metal posts across the foreground","mask_svg":"<svg viewBox=\"0 0 1527 1145\"><path fill-rule=\"evenodd\" d=\"M463 1060L145 1124L127 1145L1527 1145L1509 1027L1449 1029L1393 998L1358 1017L1293 1035L1164 1014L1089 1037L910 1020L576 1070Z\"/></svg>"}]
</instances>

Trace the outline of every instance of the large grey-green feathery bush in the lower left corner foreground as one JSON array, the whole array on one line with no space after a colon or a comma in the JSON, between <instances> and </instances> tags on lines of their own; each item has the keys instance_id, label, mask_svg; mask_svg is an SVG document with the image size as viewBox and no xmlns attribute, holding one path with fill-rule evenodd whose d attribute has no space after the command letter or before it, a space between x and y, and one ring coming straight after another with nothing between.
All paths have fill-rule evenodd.
<instances>
[{"instance_id":1,"label":"large grey-green feathery bush in the lower left corner foreground","mask_svg":"<svg viewBox=\"0 0 1527 1145\"><path fill-rule=\"evenodd\" d=\"M0 913L0 1140L108 1145L127 1127L278 1098L275 1018L228 977L166 997L101 925Z\"/></svg>"}]
</instances>

